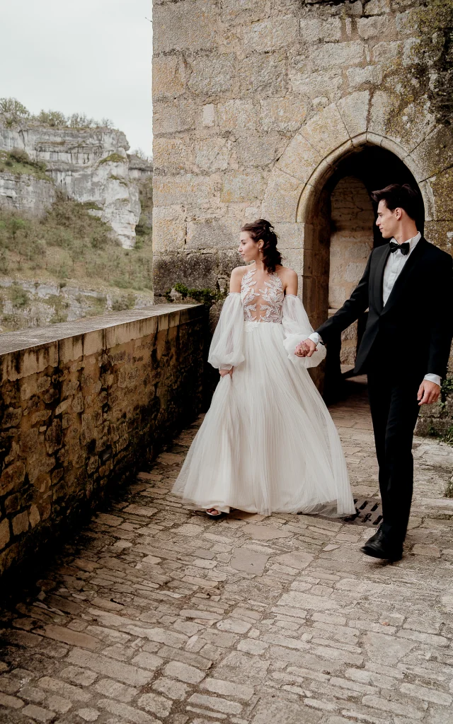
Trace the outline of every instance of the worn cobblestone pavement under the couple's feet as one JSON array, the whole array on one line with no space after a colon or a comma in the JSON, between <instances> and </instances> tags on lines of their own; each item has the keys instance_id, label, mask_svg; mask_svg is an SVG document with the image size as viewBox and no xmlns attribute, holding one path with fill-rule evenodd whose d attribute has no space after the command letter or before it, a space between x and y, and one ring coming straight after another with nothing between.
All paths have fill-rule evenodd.
<instances>
[{"instance_id":1,"label":"worn cobblestone pavement under the couple's feet","mask_svg":"<svg viewBox=\"0 0 453 724\"><path fill-rule=\"evenodd\" d=\"M363 497L357 389L332 413ZM453 449L416 440L407 551L386 565L358 550L365 526L184 508L169 491L195 432L3 612L1 723L453 723Z\"/></svg>"}]
</instances>

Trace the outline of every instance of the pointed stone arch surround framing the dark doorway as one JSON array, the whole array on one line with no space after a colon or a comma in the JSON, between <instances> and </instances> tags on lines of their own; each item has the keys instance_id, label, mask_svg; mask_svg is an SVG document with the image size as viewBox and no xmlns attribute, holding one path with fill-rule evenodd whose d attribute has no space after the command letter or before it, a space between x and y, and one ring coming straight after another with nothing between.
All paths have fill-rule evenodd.
<instances>
[{"instance_id":1,"label":"pointed stone arch surround framing the dark doorway","mask_svg":"<svg viewBox=\"0 0 453 724\"><path fill-rule=\"evenodd\" d=\"M426 160L435 130L413 125L400 138L392 131L392 110L386 93L371 97L369 91L326 106L302 125L270 174L262 216L275 224L286 263L299 274L299 293L314 327L326 319L329 309L331 193L351 159L374 149L381 156L378 170L390 163L397 173L385 182L381 172L374 181L368 174L368 193L392 180L411 182L420 190L431 235L436 232L436 179ZM357 172L353 175L360 179ZM320 383L321 376L317 374Z\"/></svg>"}]
</instances>

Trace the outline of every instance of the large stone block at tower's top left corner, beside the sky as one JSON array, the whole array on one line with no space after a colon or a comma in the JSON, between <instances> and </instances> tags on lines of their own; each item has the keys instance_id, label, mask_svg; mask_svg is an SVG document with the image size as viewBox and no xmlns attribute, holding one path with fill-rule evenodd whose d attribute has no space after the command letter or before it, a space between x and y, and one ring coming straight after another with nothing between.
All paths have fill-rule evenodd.
<instances>
[{"instance_id":1,"label":"large stone block at tower's top left corner, beside the sky","mask_svg":"<svg viewBox=\"0 0 453 724\"><path fill-rule=\"evenodd\" d=\"M209 50L217 43L217 9L209 0L154 7L154 51Z\"/></svg>"}]
</instances>

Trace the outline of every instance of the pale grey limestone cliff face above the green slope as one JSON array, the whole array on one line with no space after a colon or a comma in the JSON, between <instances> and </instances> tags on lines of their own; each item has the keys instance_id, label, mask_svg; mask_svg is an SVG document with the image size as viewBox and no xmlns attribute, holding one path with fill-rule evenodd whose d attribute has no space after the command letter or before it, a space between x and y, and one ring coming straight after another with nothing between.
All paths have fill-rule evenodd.
<instances>
[{"instance_id":1,"label":"pale grey limestone cliff face above the green slope","mask_svg":"<svg viewBox=\"0 0 453 724\"><path fill-rule=\"evenodd\" d=\"M54 188L43 180L1 173L3 206L41 214L51 205L55 191L62 190L75 201L92 203L91 213L112 226L124 248L133 247L141 207L137 164L132 164L130 172L124 133L107 128L52 128L35 122L0 125L0 151L14 148L26 151L34 161L43 161ZM150 173L151 164L147 166ZM141 170L143 173L146 169Z\"/></svg>"}]
</instances>

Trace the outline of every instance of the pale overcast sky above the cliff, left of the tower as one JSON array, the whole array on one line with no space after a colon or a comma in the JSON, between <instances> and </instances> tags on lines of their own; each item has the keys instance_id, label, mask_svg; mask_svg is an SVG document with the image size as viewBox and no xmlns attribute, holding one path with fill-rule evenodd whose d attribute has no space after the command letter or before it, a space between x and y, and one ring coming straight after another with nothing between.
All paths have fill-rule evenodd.
<instances>
[{"instance_id":1,"label":"pale overcast sky above the cliff, left of the tower","mask_svg":"<svg viewBox=\"0 0 453 724\"><path fill-rule=\"evenodd\" d=\"M109 118L151 156L151 0L4 0L0 98Z\"/></svg>"}]
</instances>

